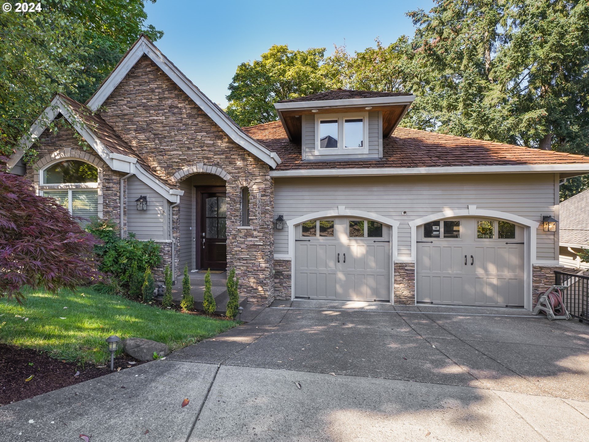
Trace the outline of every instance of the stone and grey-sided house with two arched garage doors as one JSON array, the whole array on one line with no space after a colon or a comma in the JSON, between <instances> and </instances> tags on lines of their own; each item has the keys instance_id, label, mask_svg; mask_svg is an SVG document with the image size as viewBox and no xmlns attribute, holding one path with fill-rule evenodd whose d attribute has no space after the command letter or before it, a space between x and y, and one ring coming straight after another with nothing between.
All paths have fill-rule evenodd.
<instances>
[{"instance_id":1,"label":"stone and grey-sided house with two arched garage doors","mask_svg":"<svg viewBox=\"0 0 589 442\"><path fill-rule=\"evenodd\" d=\"M399 127L414 98L327 91L241 128L142 36L87 103L55 95L37 162L9 167L160 243L174 278L236 268L250 302L532 308L558 266L544 217L589 157Z\"/></svg>"}]
</instances>

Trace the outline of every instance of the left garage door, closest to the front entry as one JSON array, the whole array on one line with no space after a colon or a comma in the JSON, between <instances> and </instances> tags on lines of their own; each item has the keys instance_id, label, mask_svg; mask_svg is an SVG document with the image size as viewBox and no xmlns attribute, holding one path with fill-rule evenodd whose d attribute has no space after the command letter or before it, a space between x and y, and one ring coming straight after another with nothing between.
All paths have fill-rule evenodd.
<instances>
[{"instance_id":1,"label":"left garage door, closest to the front entry","mask_svg":"<svg viewBox=\"0 0 589 442\"><path fill-rule=\"evenodd\" d=\"M297 226L294 296L389 301L390 227L366 219L316 219Z\"/></svg>"}]
</instances>

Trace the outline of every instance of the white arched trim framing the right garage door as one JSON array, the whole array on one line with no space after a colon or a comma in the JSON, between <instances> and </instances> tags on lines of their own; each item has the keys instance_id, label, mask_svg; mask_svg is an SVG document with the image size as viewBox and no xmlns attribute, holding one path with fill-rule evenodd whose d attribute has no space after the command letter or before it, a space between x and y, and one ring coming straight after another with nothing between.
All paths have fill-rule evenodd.
<instances>
[{"instance_id":1,"label":"white arched trim framing the right garage door","mask_svg":"<svg viewBox=\"0 0 589 442\"><path fill-rule=\"evenodd\" d=\"M423 216L418 219L409 221L411 226L411 260L416 262L417 250L417 227L425 223L437 221L445 218L464 217L464 216L480 216L495 219L502 219L511 221L525 227L524 241L525 241L525 298L524 307L528 310L532 308L532 263L536 260L536 230L540 223L524 218L522 216L514 215L507 212L499 212L498 210L477 209L474 204L469 205L466 210L445 210L444 212L434 213L432 215ZM417 294L415 296L417 299Z\"/></svg>"}]
</instances>

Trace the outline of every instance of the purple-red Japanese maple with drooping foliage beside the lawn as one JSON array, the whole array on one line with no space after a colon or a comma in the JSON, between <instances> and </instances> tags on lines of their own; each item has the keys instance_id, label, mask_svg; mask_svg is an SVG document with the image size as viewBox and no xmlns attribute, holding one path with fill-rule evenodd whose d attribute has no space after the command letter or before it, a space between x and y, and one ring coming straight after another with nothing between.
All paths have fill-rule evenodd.
<instances>
[{"instance_id":1,"label":"purple-red Japanese maple with drooping foliage beside the lawn","mask_svg":"<svg viewBox=\"0 0 589 442\"><path fill-rule=\"evenodd\" d=\"M25 285L55 292L97 279L97 242L54 199L0 171L0 297L20 300Z\"/></svg>"}]
</instances>

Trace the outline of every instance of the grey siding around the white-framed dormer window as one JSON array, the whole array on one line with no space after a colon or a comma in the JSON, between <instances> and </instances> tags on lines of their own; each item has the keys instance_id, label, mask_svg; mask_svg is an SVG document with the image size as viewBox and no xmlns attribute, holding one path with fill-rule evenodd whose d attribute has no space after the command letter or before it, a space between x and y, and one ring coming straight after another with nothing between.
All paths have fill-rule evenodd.
<instances>
[{"instance_id":1,"label":"grey siding around the white-framed dormer window","mask_svg":"<svg viewBox=\"0 0 589 442\"><path fill-rule=\"evenodd\" d=\"M302 149L306 160L330 160L344 158L378 158L382 156L382 130L380 130L380 113L368 113L368 153L315 155L315 115L303 115Z\"/></svg>"}]
</instances>

